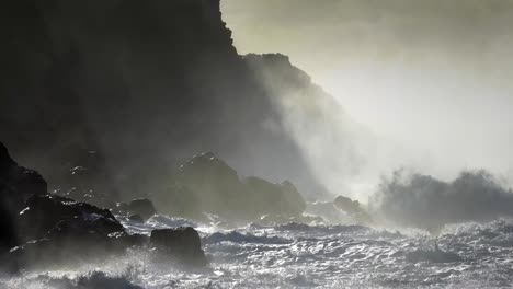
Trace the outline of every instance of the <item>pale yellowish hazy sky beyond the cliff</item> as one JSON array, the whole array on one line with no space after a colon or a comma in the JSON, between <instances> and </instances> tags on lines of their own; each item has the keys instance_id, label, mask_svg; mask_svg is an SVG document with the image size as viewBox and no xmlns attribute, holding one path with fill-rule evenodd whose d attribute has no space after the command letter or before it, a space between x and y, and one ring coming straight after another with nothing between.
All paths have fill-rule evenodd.
<instances>
[{"instance_id":1,"label":"pale yellowish hazy sky beyond the cliff","mask_svg":"<svg viewBox=\"0 0 513 289\"><path fill-rule=\"evenodd\" d=\"M411 165L513 176L513 0L223 0L223 12L240 54L289 55L356 122L414 151Z\"/></svg>"}]
</instances>

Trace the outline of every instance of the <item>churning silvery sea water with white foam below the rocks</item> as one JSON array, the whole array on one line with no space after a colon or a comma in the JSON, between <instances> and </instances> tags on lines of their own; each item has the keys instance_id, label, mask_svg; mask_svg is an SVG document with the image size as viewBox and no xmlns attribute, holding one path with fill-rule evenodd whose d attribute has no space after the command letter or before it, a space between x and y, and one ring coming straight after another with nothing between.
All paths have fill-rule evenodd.
<instances>
[{"instance_id":1,"label":"churning silvery sea water with white foam below the rocks","mask_svg":"<svg viewBox=\"0 0 513 289\"><path fill-rule=\"evenodd\" d=\"M449 226L437 239L440 251L415 230L296 223L227 230L166 216L124 224L138 233L193 226L212 266L186 271L129 252L1 277L0 288L513 288L510 219Z\"/></svg>"}]
</instances>

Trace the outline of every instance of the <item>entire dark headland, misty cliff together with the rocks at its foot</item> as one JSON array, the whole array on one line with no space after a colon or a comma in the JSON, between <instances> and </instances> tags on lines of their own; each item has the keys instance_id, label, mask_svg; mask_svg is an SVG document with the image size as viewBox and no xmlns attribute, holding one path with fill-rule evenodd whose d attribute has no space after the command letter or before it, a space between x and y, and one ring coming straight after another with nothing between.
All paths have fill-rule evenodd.
<instances>
[{"instance_id":1,"label":"entire dark headland, misty cliff together with the rocks at its foot","mask_svg":"<svg viewBox=\"0 0 513 289\"><path fill-rule=\"evenodd\" d=\"M219 0L21 0L0 14L7 270L153 246L207 264L194 229L134 235L116 218L311 220L299 190L324 188L261 71L317 86L285 56L239 56Z\"/></svg>"}]
</instances>

